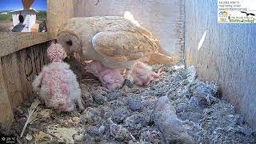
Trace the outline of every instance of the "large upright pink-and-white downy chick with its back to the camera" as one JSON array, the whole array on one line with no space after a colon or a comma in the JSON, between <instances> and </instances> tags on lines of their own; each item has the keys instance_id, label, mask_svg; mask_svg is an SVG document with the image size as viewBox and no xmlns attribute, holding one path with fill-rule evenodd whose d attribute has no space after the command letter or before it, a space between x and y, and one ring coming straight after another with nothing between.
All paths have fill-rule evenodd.
<instances>
[{"instance_id":1,"label":"large upright pink-and-white downy chick with its back to the camera","mask_svg":"<svg viewBox=\"0 0 256 144\"><path fill-rule=\"evenodd\" d=\"M32 83L33 90L46 104L58 111L74 110L77 102L79 109L83 110L81 90L76 75L70 70L70 66L62 62L64 49L60 44L51 44L47 50L47 56L51 63L43 66L42 72Z\"/></svg>"}]
</instances>

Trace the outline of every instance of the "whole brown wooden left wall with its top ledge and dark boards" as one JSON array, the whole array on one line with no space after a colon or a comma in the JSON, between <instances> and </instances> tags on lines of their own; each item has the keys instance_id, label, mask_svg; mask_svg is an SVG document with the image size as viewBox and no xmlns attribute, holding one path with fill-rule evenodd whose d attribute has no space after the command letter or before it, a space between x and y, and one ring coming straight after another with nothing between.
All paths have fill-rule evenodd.
<instances>
[{"instance_id":1,"label":"whole brown wooden left wall with its top ledge and dark boards","mask_svg":"<svg viewBox=\"0 0 256 144\"><path fill-rule=\"evenodd\" d=\"M0 35L0 127L10 127L13 110L32 95L32 80L48 63L46 33Z\"/></svg>"}]
</instances>

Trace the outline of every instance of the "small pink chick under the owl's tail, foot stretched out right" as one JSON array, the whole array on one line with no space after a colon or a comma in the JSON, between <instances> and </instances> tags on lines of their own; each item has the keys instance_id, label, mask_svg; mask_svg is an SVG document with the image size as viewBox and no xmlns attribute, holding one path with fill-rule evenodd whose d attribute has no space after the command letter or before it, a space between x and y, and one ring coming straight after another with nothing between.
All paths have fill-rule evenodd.
<instances>
[{"instance_id":1,"label":"small pink chick under the owl's tail, foot stretched out right","mask_svg":"<svg viewBox=\"0 0 256 144\"><path fill-rule=\"evenodd\" d=\"M159 78L165 74L162 70L158 70L158 73L155 73L150 66L147 66L145 63L136 62L132 68L132 77L134 78L134 83L138 86L148 86L151 81L155 78Z\"/></svg>"}]
</instances>

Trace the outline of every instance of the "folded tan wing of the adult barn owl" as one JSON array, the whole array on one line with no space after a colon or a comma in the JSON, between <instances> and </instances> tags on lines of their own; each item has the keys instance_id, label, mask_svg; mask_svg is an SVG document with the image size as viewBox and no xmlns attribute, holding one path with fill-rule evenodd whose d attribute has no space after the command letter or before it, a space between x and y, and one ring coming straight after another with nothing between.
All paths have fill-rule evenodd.
<instances>
[{"instance_id":1,"label":"folded tan wing of the adult barn owl","mask_svg":"<svg viewBox=\"0 0 256 144\"><path fill-rule=\"evenodd\" d=\"M103 31L92 39L94 50L112 62L127 62L158 53L158 40L141 31Z\"/></svg>"}]
</instances>

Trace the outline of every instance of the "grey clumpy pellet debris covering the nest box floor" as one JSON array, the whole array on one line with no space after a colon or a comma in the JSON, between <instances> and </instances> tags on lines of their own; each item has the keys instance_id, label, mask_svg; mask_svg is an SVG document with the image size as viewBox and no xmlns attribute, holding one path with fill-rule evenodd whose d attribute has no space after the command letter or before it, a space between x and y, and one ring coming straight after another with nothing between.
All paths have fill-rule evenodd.
<instances>
[{"instance_id":1,"label":"grey clumpy pellet debris covering the nest box floor","mask_svg":"<svg viewBox=\"0 0 256 144\"><path fill-rule=\"evenodd\" d=\"M102 90L96 78L82 79L86 110L57 114L38 106L36 116L19 141L22 143L163 143L163 134L154 125L154 103L167 95L196 143L255 143L256 133L234 106L218 98L218 86L198 79L191 81L188 70L164 67L166 76L150 86L130 90ZM193 99L191 97L198 97ZM200 97L206 97L200 99ZM15 110L14 127L7 133L19 135L33 99ZM179 143L178 141L173 141Z\"/></svg>"}]
</instances>

